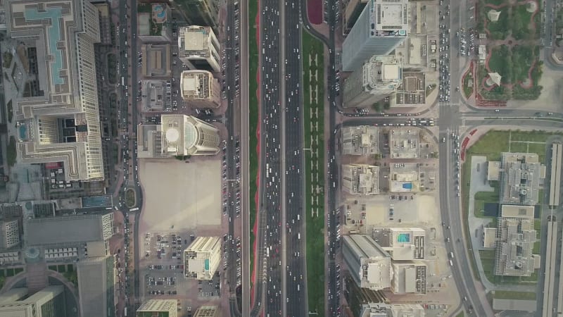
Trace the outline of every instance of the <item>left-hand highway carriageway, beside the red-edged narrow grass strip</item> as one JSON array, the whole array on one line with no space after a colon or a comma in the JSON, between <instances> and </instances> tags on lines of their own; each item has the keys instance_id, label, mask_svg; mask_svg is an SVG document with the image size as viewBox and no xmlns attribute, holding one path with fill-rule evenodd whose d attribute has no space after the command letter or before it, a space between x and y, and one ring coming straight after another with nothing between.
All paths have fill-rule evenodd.
<instances>
[{"instance_id":1,"label":"left-hand highway carriageway, beside the red-edged narrow grass strip","mask_svg":"<svg viewBox=\"0 0 563 317\"><path fill-rule=\"evenodd\" d=\"M282 222L281 204L283 188L281 185L282 141L281 141L281 95L280 95L280 15L276 0L260 1L260 37L258 54L260 69L260 207L257 247L255 302L265 302L264 313L281 316L284 299L281 294L282 266ZM263 285L263 292L258 289ZM260 306L260 305L255 305ZM259 309L259 307L258 307ZM254 313L258 311L253 310Z\"/></svg>"}]
</instances>

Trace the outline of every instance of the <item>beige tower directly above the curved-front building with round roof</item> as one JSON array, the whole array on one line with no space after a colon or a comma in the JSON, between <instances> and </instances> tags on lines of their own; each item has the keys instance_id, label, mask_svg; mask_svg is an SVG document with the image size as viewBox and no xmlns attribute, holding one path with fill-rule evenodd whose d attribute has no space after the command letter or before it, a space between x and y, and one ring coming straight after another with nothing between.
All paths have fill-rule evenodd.
<instances>
[{"instance_id":1,"label":"beige tower directly above the curved-front building with round roof","mask_svg":"<svg viewBox=\"0 0 563 317\"><path fill-rule=\"evenodd\" d=\"M182 98L193 108L219 108L219 80L207 70L184 70L180 75Z\"/></svg>"}]
</instances>

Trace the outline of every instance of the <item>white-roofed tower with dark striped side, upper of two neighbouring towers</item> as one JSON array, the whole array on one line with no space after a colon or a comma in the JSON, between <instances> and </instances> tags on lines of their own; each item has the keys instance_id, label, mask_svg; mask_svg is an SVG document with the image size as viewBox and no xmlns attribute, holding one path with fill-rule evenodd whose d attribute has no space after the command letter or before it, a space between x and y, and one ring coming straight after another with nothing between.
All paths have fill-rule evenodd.
<instances>
[{"instance_id":1,"label":"white-roofed tower with dark striped side, upper of two neighbouring towers","mask_svg":"<svg viewBox=\"0 0 563 317\"><path fill-rule=\"evenodd\" d=\"M219 73L220 44L211 27L191 25L180 27L178 57L191 70L209 70Z\"/></svg>"}]
</instances>

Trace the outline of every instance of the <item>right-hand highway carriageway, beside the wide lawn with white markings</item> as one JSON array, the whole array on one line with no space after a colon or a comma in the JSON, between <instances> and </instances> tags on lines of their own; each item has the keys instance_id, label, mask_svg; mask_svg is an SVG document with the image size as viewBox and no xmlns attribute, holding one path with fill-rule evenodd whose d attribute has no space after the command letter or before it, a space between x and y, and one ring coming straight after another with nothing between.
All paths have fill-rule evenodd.
<instances>
[{"instance_id":1,"label":"right-hand highway carriageway, beside the wide lawn with white markings","mask_svg":"<svg viewBox=\"0 0 563 317\"><path fill-rule=\"evenodd\" d=\"M306 6L304 1L280 1L284 8L281 37L284 51L284 77L282 96L285 96L283 126L284 139L284 193L285 208L282 217L285 223L286 234L286 272L282 287L282 294L286 301L284 316L306 316L307 302L307 271L305 265L305 155L303 139L303 95L301 94L302 82L302 45L301 45L301 6ZM306 17L306 15L305 15ZM303 56L305 58L305 56ZM309 113L306 114L309 116ZM282 263L284 264L284 263Z\"/></svg>"}]
</instances>

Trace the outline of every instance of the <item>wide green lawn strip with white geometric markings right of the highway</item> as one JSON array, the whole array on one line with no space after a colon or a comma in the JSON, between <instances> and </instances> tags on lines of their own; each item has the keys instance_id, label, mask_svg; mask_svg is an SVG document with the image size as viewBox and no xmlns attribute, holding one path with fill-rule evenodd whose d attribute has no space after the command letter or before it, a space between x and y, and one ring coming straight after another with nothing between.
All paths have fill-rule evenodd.
<instances>
[{"instance_id":1,"label":"wide green lawn strip with white geometric markings right of the highway","mask_svg":"<svg viewBox=\"0 0 563 317\"><path fill-rule=\"evenodd\" d=\"M303 34L303 111L305 111L305 225L307 246L307 287L309 311L324 316L324 46L308 32ZM309 61L309 56L315 58ZM317 70L317 78L309 70ZM311 94L317 89L317 99ZM311 113L313 113L311 115ZM316 115L315 115L316 113ZM312 128L312 123L315 128ZM315 139L312 142L311 139ZM316 141L318 139L318 142ZM312 173L316 174L315 176ZM313 190L315 188L315 190ZM312 211L318 211L313 216Z\"/></svg>"}]
</instances>

